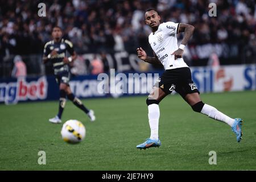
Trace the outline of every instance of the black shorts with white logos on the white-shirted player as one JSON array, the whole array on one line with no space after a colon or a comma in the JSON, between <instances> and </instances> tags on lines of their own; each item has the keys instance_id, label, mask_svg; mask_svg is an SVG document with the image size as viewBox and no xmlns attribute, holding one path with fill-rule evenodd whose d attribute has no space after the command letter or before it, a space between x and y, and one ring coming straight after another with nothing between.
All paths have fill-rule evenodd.
<instances>
[{"instance_id":1,"label":"black shorts with white logos on the white-shirted player","mask_svg":"<svg viewBox=\"0 0 256 182\"><path fill-rule=\"evenodd\" d=\"M170 94L176 91L181 97L189 93L199 93L195 83L191 78L191 71L188 67L167 69L155 84L164 93Z\"/></svg>"}]
</instances>

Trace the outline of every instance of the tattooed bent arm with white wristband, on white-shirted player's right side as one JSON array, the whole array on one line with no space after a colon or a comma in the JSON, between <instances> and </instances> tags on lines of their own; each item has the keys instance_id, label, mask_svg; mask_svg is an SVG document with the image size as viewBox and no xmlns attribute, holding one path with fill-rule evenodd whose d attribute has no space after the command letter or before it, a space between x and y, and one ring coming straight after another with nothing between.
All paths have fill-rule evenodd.
<instances>
[{"instance_id":1,"label":"tattooed bent arm with white wristband, on white-shirted player's right side","mask_svg":"<svg viewBox=\"0 0 256 182\"><path fill-rule=\"evenodd\" d=\"M181 45L179 47L179 49L177 49L176 51L174 51L172 53L172 55L175 55L175 59L182 57L184 47L188 44L188 40L193 35L194 30L195 30L195 27L192 26L191 24L185 24L185 23L180 23L179 24L177 33L184 32L184 37L183 37L183 40L181 42L181 44L184 45L184 46Z\"/></svg>"}]
</instances>

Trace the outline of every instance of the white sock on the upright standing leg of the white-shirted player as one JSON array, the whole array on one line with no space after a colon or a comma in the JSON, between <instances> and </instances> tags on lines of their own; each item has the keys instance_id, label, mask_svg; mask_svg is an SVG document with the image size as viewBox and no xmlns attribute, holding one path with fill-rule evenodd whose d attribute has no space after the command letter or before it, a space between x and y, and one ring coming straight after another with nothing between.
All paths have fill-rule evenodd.
<instances>
[{"instance_id":1,"label":"white sock on the upright standing leg of the white-shirted player","mask_svg":"<svg viewBox=\"0 0 256 182\"><path fill-rule=\"evenodd\" d=\"M148 105L148 122L150 124L151 135L150 138L158 140L158 123L160 117L160 110L158 104Z\"/></svg>"}]
</instances>

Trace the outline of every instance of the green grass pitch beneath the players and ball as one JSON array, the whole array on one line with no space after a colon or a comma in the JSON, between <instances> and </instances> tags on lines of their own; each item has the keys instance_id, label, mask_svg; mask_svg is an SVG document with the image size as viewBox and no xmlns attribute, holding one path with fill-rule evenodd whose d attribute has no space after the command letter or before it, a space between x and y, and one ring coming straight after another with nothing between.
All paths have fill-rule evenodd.
<instances>
[{"instance_id":1,"label":"green grass pitch beneath the players and ball","mask_svg":"<svg viewBox=\"0 0 256 182\"><path fill-rule=\"evenodd\" d=\"M230 117L241 117L243 140L231 128L192 111L179 95L160 103L162 146L137 150L150 136L146 96L83 100L96 113L90 122L70 101L63 122L78 119L86 127L79 144L65 143L60 125L48 122L57 101L0 105L1 170L255 170L256 92L201 94L202 100ZM46 165L38 152L46 152ZM209 151L217 152L210 165Z\"/></svg>"}]
</instances>

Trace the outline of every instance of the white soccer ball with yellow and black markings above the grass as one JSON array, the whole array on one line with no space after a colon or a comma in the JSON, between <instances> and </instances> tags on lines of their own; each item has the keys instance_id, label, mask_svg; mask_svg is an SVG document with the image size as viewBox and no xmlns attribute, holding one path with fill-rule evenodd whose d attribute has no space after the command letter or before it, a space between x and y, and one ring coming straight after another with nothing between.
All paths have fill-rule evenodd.
<instances>
[{"instance_id":1,"label":"white soccer ball with yellow and black markings above the grass","mask_svg":"<svg viewBox=\"0 0 256 182\"><path fill-rule=\"evenodd\" d=\"M85 138L85 133L85 126L76 119L66 121L60 131L61 137L68 143L81 142Z\"/></svg>"}]
</instances>

